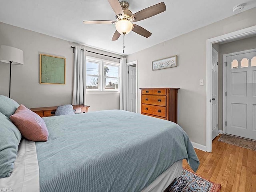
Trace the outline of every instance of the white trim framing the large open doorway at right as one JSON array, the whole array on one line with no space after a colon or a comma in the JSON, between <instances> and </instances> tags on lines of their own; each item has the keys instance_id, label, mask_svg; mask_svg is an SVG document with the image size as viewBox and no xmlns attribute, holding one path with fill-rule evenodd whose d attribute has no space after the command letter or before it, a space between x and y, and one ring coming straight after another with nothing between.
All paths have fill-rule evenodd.
<instances>
[{"instance_id":1,"label":"white trim framing the large open doorway at right","mask_svg":"<svg viewBox=\"0 0 256 192\"><path fill-rule=\"evenodd\" d=\"M212 44L256 34L256 25L206 40L206 151L212 152Z\"/></svg>"}]
</instances>

